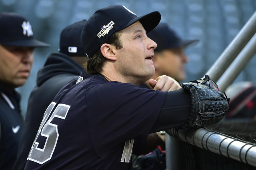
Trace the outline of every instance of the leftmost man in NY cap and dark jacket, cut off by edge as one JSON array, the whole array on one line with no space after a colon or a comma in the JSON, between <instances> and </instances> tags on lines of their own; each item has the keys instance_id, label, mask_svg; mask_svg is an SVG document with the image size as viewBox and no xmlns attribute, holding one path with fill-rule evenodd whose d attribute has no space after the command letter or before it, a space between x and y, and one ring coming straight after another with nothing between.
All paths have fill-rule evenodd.
<instances>
[{"instance_id":1,"label":"leftmost man in NY cap and dark jacket, cut off by edge","mask_svg":"<svg viewBox=\"0 0 256 170\"><path fill-rule=\"evenodd\" d=\"M24 17L0 13L0 169L9 170L16 159L23 129L20 94L30 75L35 47L49 45L34 39L31 24Z\"/></svg>"}]
</instances>

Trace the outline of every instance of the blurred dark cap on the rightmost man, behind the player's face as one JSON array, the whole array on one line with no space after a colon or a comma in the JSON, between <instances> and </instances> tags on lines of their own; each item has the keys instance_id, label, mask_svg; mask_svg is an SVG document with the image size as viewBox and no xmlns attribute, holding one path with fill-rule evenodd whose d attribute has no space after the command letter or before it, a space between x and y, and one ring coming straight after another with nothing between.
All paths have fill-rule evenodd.
<instances>
[{"instance_id":1,"label":"blurred dark cap on the rightmost man, behind the player's face","mask_svg":"<svg viewBox=\"0 0 256 170\"><path fill-rule=\"evenodd\" d=\"M192 43L198 42L198 39L181 39L167 23L159 23L147 36L156 42L157 47L154 51L172 49L176 47L186 47Z\"/></svg>"}]
</instances>

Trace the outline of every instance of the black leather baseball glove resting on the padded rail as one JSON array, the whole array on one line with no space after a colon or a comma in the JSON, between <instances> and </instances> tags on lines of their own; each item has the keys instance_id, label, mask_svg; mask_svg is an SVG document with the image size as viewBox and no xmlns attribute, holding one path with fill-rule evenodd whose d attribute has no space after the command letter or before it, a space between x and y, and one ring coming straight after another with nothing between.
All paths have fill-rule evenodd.
<instances>
[{"instance_id":1,"label":"black leather baseball glove resting on the padded rail","mask_svg":"<svg viewBox=\"0 0 256 170\"><path fill-rule=\"evenodd\" d=\"M190 93L191 113L188 127L201 127L218 123L228 110L229 99L219 91L217 84L208 75L204 79L183 83Z\"/></svg>"}]
</instances>

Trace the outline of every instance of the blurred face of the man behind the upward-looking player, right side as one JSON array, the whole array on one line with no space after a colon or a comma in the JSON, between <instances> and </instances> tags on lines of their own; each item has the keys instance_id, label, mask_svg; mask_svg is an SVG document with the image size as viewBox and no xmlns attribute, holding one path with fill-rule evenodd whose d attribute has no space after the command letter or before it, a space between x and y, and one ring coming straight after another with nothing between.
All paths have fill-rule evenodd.
<instances>
[{"instance_id":1,"label":"blurred face of the man behind the upward-looking player, right side","mask_svg":"<svg viewBox=\"0 0 256 170\"><path fill-rule=\"evenodd\" d=\"M163 50L157 53L153 59L156 72L159 75L170 76L179 81L186 78L185 63L187 61L188 57L182 47Z\"/></svg>"}]
</instances>

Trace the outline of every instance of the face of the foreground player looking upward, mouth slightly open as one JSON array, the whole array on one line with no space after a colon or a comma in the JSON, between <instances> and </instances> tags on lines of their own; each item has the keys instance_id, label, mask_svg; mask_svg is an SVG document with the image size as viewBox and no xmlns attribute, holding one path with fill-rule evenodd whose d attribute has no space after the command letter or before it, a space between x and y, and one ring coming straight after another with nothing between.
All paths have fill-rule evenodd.
<instances>
[{"instance_id":1,"label":"face of the foreground player looking upward, mouth slightly open","mask_svg":"<svg viewBox=\"0 0 256 170\"><path fill-rule=\"evenodd\" d=\"M148 80L155 72L152 57L156 43L147 37L139 21L120 32L122 48L116 53L116 70L131 82L140 83Z\"/></svg>"}]
</instances>

